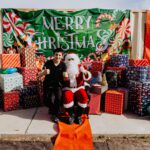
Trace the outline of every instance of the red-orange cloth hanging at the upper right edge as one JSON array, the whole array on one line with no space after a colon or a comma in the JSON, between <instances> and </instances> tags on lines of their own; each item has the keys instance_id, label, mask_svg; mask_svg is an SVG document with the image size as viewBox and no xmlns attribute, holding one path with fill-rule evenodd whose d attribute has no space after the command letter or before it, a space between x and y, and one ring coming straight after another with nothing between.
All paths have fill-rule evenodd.
<instances>
[{"instance_id":1,"label":"red-orange cloth hanging at the upper right edge","mask_svg":"<svg viewBox=\"0 0 150 150\"><path fill-rule=\"evenodd\" d=\"M144 59L147 59L150 64L150 11L147 11L147 17L146 17Z\"/></svg>"}]
</instances>

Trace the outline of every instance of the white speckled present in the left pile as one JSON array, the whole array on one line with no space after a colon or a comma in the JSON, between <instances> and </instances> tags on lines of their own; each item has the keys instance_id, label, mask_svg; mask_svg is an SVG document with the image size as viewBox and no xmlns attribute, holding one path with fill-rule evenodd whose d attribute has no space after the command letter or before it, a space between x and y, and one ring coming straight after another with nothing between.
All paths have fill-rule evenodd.
<instances>
[{"instance_id":1,"label":"white speckled present in the left pile","mask_svg":"<svg viewBox=\"0 0 150 150\"><path fill-rule=\"evenodd\" d=\"M20 73L0 74L0 88L4 92L23 88L23 77Z\"/></svg>"}]
</instances>

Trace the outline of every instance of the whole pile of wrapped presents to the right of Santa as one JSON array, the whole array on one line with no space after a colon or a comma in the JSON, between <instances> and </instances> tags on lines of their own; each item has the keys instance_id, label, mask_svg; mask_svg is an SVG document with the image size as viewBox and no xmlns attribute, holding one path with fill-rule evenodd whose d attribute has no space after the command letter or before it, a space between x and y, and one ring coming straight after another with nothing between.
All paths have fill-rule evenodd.
<instances>
[{"instance_id":1,"label":"whole pile of wrapped presents to the right of Santa","mask_svg":"<svg viewBox=\"0 0 150 150\"><path fill-rule=\"evenodd\" d=\"M150 66L147 60L133 60L125 54L114 54L107 66L96 60L89 68L92 73L90 114L103 110L118 115L126 111L140 116L149 115ZM104 86L108 88L102 94Z\"/></svg>"}]
</instances>

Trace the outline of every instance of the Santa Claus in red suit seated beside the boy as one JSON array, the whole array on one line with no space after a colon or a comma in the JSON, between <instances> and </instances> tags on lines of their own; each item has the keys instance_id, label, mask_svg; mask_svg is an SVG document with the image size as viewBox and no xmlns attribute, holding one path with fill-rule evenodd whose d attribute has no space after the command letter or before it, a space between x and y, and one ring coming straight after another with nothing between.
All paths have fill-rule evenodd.
<instances>
[{"instance_id":1,"label":"Santa Claus in red suit seated beside the boy","mask_svg":"<svg viewBox=\"0 0 150 150\"><path fill-rule=\"evenodd\" d=\"M69 114L68 123L82 124L82 114L87 107L88 95L85 90L85 81L91 79L91 73L81 64L75 53L68 53L65 57L67 74L63 88L64 108ZM76 97L76 98L75 98ZM77 113L74 117L74 99L77 101Z\"/></svg>"}]
</instances>

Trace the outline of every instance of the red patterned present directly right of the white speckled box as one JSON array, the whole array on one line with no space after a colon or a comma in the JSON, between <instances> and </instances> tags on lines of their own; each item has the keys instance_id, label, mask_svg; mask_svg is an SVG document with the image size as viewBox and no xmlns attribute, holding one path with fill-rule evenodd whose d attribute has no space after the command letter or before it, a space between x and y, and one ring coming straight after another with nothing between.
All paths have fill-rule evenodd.
<instances>
[{"instance_id":1,"label":"red patterned present directly right of the white speckled box","mask_svg":"<svg viewBox=\"0 0 150 150\"><path fill-rule=\"evenodd\" d=\"M37 68L19 68L19 72L23 75L23 84L25 86L37 84Z\"/></svg>"}]
</instances>

